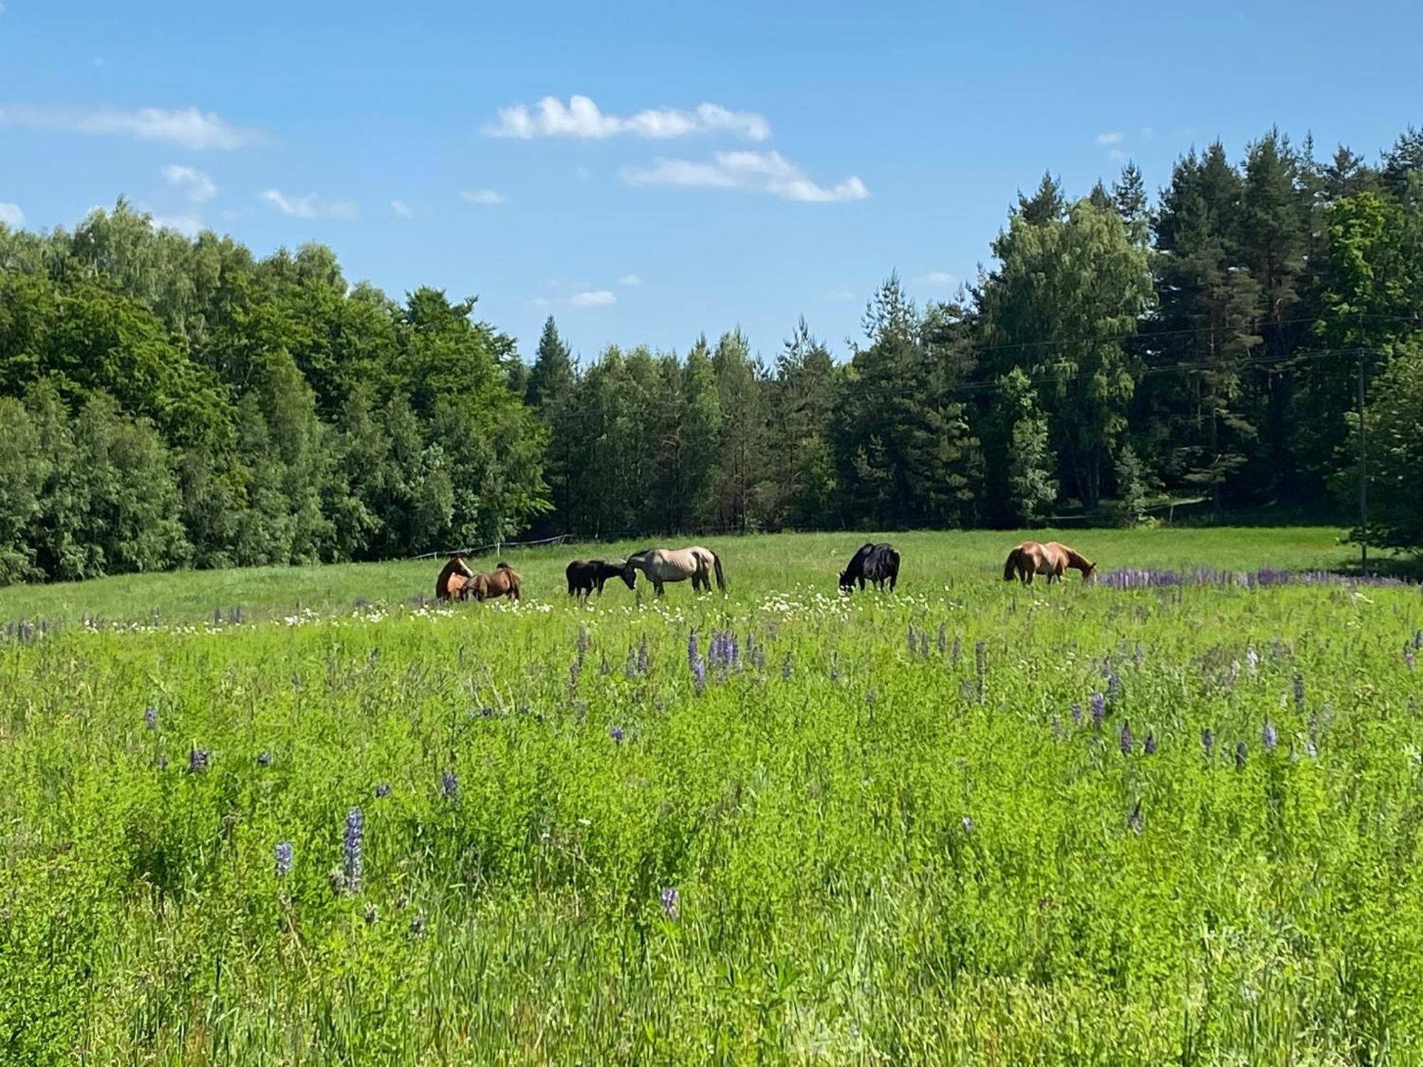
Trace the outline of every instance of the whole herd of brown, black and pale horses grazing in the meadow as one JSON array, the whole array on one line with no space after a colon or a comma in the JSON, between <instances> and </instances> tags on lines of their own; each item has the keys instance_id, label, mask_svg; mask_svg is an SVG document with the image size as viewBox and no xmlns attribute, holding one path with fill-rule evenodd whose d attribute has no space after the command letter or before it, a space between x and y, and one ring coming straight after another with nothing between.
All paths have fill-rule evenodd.
<instances>
[{"instance_id":1,"label":"whole herd of brown, black and pale horses grazing in the meadow","mask_svg":"<svg viewBox=\"0 0 1423 1067\"><path fill-rule=\"evenodd\" d=\"M1033 580L1033 575L1044 575L1047 583L1060 582L1069 569L1080 570L1081 576L1091 578L1097 565L1090 562L1080 552L1049 541L1040 545L1036 541L1025 541L1007 553L1003 563L1003 580L1012 582L1015 578L1023 585ZM717 589L726 589L726 572L721 569L721 558L709 548L693 545L690 548L649 548L633 552L623 561L610 562L606 559L575 559L565 569L568 578L568 595L579 600L588 599L596 590L603 595L603 583L618 578L629 588L636 588L638 572L652 582L657 596L669 582L692 580L692 590L712 592L712 579L716 578ZM851 592L855 586L864 589L867 583L877 589L889 586L894 592L899 580L899 551L889 542L865 542L850 563L840 572L840 588ZM495 565L494 570L475 573L464 562L464 555L455 552L450 562L444 565L435 579L437 600L494 600L507 596L518 600L521 593L519 573L505 562Z\"/></svg>"}]
</instances>

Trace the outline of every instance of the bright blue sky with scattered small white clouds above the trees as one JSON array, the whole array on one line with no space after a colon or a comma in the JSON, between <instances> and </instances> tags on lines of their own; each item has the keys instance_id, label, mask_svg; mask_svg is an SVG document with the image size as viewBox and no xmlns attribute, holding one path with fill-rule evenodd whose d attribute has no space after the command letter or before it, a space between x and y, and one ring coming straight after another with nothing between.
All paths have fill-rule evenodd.
<instances>
[{"instance_id":1,"label":"bright blue sky with scattered small white clouds above the trees","mask_svg":"<svg viewBox=\"0 0 1423 1067\"><path fill-rule=\"evenodd\" d=\"M1416 3L4 0L0 219L124 193L320 240L525 356L551 313L585 359L736 326L770 359L801 314L844 354L889 270L972 277L1044 168L1155 191L1272 124L1372 158L1423 121L1420 40Z\"/></svg>"}]
</instances>

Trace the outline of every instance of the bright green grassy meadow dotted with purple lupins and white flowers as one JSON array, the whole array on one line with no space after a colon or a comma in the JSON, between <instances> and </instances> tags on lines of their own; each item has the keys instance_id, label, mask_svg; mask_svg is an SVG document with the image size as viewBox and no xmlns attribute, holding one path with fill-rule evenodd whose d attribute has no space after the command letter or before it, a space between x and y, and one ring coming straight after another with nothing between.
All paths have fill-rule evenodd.
<instances>
[{"instance_id":1,"label":"bright green grassy meadow dotted with purple lupins and white flowers","mask_svg":"<svg viewBox=\"0 0 1423 1067\"><path fill-rule=\"evenodd\" d=\"M54 625L0 639L0 1056L1423 1057L1416 586L1022 589L1016 535L894 539L848 599L851 535L588 607L588 549L518 556L512 610L413 603L428 562L0 590Z\"/></svg>"}]
</instances>

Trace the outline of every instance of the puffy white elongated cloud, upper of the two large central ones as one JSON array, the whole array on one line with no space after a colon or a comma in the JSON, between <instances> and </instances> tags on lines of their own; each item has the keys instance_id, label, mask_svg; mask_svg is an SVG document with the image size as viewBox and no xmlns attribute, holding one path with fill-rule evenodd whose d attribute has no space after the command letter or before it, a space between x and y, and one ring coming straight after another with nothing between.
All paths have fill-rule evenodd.
<instances>
[{"instance_id":1,"label":"puffy white elongated cloud, upper of the two large central ones","mask_svg":"<svg viewBox=\"0 0 1423 1067\"><path fill-rule=\"evenodd\" d=\"M572 95L565 105L558 97L544 97L529 108L525 104L499 108L499 121L484 127L488 137L605 138L630 134L645 138L686 137L689 134L729 132L748 141L764 141L771 124L754 111L730 111L720 104L697 104L693 111L655 108L636 115L605 115L583 95Z\"/></svg>"}]
</instances>

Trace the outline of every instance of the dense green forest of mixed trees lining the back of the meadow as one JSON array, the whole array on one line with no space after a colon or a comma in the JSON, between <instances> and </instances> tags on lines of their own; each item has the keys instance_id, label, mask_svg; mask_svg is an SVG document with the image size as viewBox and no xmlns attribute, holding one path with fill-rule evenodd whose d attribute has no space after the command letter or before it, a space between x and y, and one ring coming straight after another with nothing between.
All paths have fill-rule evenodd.
<instances>
[{"instance_id":1,"label":"dense green forest of mixed trees lining the back of the meadow","mask_svg":"<svg viewBox=\"0 0 1423 1067\"><path fill-rule=\"evenodd\" d=\"M1050 175L989 266L864 339L804 320L524 359L475 299L258 259L124 199L0 223L0 583L366 561L528 534L1131 525L1167 499L1423 546L1423 131L1373 162L1271 131ZM888 265L887 265L888 266ZM1362 407L1360 407L1362 400ZM1358 532L1358 531L1356 531Z\"/></svg>"}]
</instances>

